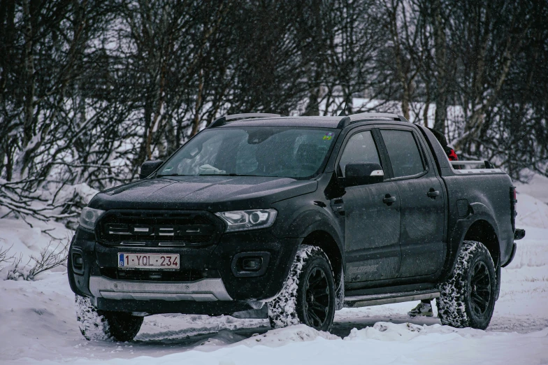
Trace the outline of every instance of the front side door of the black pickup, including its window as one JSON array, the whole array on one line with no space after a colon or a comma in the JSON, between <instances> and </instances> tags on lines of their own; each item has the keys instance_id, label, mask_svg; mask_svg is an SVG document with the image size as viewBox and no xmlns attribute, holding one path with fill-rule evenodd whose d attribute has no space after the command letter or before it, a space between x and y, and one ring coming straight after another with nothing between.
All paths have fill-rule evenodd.
<instances>
[{"instance_id":1,"label":"front side door of the black pickup, including its window","mask_svg":"<svg viewBox=\"0 0 548 365\"><path fill-rule=\"evenodd\" d=\"M384 167L371 129L356 129L345 138L337 162L338 176L345 166L375 162ZM400 270L400 202L396 183L384 182L347 187L345 205L345 281L396 278ZM383 199L394 196L393 203Z\"/></svg>"}]
</instances>

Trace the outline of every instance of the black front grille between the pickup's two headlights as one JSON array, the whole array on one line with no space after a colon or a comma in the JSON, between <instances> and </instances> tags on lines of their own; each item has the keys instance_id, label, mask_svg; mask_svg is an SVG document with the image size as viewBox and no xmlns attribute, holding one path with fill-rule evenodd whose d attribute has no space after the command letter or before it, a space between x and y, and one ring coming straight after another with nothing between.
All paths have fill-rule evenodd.
<instances>
[{"instance_id":1,"label":"black front grille between the pickup's two headlights","mask_svg":"<svg viewBox=\"0 0 548 365\"><path fill-rule=\"evenodd\" d=\"M222 222L207 212L108 210L99 224L99 241L110 245L197 247L217 241Z\"/></svg>"}]
</instances>

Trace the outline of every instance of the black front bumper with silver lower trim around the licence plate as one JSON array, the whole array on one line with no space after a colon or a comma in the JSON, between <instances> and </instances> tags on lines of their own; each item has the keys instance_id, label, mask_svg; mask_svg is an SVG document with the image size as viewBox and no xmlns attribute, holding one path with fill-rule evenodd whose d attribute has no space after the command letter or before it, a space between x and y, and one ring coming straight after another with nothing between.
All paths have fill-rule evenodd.
<instances>
[{"instance_id":1,"label":"black front bumper with silver lower trim around the licence plate","mask_svg":"<svg viewBox=\"0 0 548 365\"><path fill-rule=\"evenodd\" d=\"M71 245L84 259L84 268L69 269L73 292L90 296L103 310L147 313L231 313L257 308L261 301L282 289L299 238L280 239L269 229L223 234L219 242L203 248L163 248L162 253L180 254L180 273L194 273L168 280L127 280L117 268L118 252L158 252L153 248L107 246L96 242L95 235L78 229ZM260 275L238 275L233 263L242 253L264 255L266 270ZM135 272L134 273L141 273ZM199 278L196 274L199 273Z\"/></svg>"}]
</instances>

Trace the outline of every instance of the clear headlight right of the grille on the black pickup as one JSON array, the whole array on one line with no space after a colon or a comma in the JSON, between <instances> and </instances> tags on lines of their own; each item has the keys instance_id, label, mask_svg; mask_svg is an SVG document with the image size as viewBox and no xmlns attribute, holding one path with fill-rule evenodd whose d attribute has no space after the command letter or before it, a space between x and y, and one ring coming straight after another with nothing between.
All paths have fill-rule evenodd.
<instances>
[{"instance_id":1,"label":"clear headlight right of the grille on the black pickup","mask_svg":"<svg viewBox=\"0 0 548 365\"><path fill-rule=\"evenodd\" d=\"M277 211L275 209L233 210L215 214L226 222L226 231L233 232L271 227Z\"/></svg>"}]
</instances>

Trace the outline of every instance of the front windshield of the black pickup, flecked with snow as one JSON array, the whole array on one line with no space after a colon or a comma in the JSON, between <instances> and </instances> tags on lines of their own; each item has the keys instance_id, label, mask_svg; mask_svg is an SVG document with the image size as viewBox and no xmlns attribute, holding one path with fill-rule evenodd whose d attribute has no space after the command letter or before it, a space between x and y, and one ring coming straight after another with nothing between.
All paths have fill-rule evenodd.
<instances>
[{"instance_id":1,"label":"front windshield of the black pickup, flecked with snow","mask_svg":"<svg viewBox=\"0 0 548 365\"><path fill-rule=\"evenodd\" d=\"M158 176L310 178L323 169L338 129L228 127L202 131Z\"/></svg>"}]
</instances>

